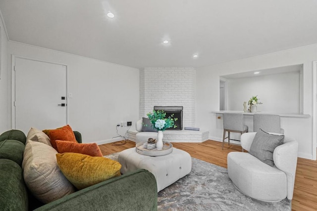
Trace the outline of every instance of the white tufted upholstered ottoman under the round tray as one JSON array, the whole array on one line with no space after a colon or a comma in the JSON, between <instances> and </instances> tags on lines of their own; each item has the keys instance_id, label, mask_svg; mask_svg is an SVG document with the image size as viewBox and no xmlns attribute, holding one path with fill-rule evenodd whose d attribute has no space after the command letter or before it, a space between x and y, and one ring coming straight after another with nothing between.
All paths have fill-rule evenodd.
<instances>
[{"instance_id":1,"label":"white tufted upholstered ottoman under the round tray","mask_svg":"<svg viewBox=\"0 0 317 211\"><path fill-rule=\"evenodd\" d=\"M147 169L153 173L157 179L158 192L189 174L192 169L190 155L176 148L168 155L152 157L137 153L134 147L120 152L118 161L123 174L136 169Z\"/></svg>"}]
</instances>

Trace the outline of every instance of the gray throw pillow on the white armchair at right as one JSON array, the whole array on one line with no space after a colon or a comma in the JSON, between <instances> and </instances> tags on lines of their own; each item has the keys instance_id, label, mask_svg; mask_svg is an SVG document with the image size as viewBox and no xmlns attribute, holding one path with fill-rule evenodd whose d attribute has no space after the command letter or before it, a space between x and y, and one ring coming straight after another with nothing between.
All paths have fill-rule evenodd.
<instances>
[{"instance_id":1,"label":"gray throw pillow on the white armchair at right","mask_svg":"<svg viewBox=\"0 0 317 211\"><path fill-rule=\"evenodd\" d=\"M250 147L249 153L263 163L273 167L274 149L284 141L284 135L273 135L259 129Z\"/></svg>"}]
</instances>

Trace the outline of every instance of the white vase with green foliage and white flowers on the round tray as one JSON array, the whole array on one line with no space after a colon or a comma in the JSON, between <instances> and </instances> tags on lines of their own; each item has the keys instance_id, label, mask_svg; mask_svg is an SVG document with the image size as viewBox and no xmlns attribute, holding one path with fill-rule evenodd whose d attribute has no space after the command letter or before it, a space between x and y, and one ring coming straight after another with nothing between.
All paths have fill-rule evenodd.
<instances>
[{"instance_id":1,"label":"white vase with green foliage and white flowers on the round tray","mask_svg":"<svg viewBox=\"0 0 317 211\"><path fill-rule=\"evenodd\" d=\"M152 127L158 130L157 150L162 150L163 131L170 127L176 128L177 126L175 125L175 122L177 121L177 118L174 118L174 114L166 118L166 113L164 111L155 110L153 110L153 113L148 113L147 116L152 123Z\"/></svg>"}]
</instances>

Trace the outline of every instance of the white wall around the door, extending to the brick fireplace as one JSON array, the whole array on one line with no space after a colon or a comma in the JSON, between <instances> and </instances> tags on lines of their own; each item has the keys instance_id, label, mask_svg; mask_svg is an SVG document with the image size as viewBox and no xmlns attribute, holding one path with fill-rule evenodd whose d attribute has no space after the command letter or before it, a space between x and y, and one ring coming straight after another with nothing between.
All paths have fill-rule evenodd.
<instances>
[{"instance_id":1,"label":"white wall around the door, extending to the brick fireplace","mask_svg":"<svg viewBox=\"0 0 317 211\"><path fill-rule=\"evenodd\" d=\"M68 123L74 130L82 133L83 142L101 144L118 140L120 138L112 139L117 136L116 124L132 121L134 126L138 120L138 69L23 43L8 42L9 87L11 54L67 65L68 92L73 94L73 98L68 99ZM11 96L7 100L11 102ZM118 128L120 135L124 135L128 129Z\"/></svg>"}]
</instances>

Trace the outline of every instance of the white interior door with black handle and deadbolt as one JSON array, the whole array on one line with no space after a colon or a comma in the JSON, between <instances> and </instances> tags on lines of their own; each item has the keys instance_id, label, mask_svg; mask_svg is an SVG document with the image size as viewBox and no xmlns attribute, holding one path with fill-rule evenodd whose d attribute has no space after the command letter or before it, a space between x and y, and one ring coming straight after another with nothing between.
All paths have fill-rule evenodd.
<instances>
[{"instance_id":1,"label":"white interior door with black handle and deadbolt","mask_svg":"<svg viewBox=\"0 0 317 211\"><path fill-rule=\"evenodd\" d=\"M66 125L66 66L15 57L14 70L14 128Z\"/></svg>"}]
</instances>

